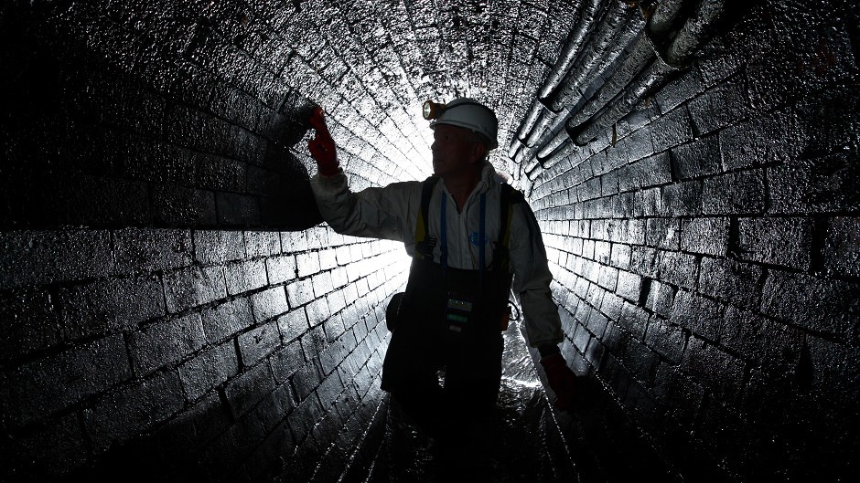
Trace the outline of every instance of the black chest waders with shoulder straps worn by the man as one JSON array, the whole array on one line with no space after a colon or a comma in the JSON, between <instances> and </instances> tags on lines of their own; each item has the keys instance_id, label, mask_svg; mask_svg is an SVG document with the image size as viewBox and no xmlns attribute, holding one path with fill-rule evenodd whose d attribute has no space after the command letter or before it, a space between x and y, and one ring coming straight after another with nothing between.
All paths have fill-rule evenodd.
<instances>
[{"instance_id":1,"label":"black chest waders with shoulder straps worn by the man","mask_svg":"<svg viewBox=\"0 0 860 483\"><path fill-rule=\"evenodd\" d=\"M428 235L430 194L438 177L427 178L422 190L421 212L416 222L416 256L397 309L392 339L382 367L382 389L399 382L427 377L445 370L450 380L499 380L501 377L501 331L507 328L508 296L511 291L508 243L511 236L511 205L522 194L502 184L500 230L493 244L493 263L484 268L486 196L480 198L478 231L480 269L447 266L446 199L441 204L441 263L433 260L436 240ZM395 313L396 312L396 313ZM392 322L390 322L390 328Z\"/></svg>"}]
</instances>

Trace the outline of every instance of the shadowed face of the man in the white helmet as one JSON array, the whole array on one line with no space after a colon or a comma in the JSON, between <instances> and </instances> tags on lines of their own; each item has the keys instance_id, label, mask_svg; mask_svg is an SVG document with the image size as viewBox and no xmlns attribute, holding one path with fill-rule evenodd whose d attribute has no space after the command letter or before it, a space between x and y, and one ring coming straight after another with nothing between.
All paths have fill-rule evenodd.
<instances>
[{"instance_id":1,"label":"shadowed face of the man in the white helmet","mask_svg":"<svg viewBox=\"0 0 860 483\"><path fill-rule=\"evenodd\" d=\"M433 131L433 173L442 176L457 176L475 169L480 159L481 146L465 128L449 124L437 124Z\"/></svg>"}]
</instances>

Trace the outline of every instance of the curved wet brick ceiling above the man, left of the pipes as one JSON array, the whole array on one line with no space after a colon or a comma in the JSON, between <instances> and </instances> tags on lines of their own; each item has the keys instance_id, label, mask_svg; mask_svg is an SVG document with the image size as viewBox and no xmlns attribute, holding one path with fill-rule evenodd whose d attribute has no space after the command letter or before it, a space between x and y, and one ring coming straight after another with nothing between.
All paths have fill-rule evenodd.
<instances>
[{"instance_id":1,"label":"curved wet brick ceiling above the man, left of the pipes","mask_svg":"<svg viewBox=\"0 0 860 483\"><path fill-rule=\"evenodd\" d=\"M585 14L580 4L588 4ZM426 159L424 100L475 97L498 111L493 161L511 171L505 147L565 37L596 5L599 13L613 4L136 1L75 3L53 21L62 37L156 89L205 89L214 76L275 105L295 88L330 110L347 150L347 130L363 137L380 126L382 136L368 141L396 163ZM403 171L423 177L425 166Z\"/></svg>"}]
</instances>

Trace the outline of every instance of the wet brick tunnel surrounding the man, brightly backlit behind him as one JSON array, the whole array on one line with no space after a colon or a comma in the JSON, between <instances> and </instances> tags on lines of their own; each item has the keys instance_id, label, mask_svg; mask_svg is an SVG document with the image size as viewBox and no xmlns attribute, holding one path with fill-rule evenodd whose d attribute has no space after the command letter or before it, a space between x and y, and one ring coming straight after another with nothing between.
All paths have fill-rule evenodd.
<instances>
[{"instance_id":1,"label":"wet brick tunnel surrounding the man, brightly backlit behind him","mask_svg":"<svg viewBox=\"0 0 860 483\"><path fill-rule=\"evenodd\" d=\"M426 481L380 388L402 244L309 191L432 172L496 110L575 408L505 332L496 481L856 481L847 0L8 0L0 479Z\"/></svg>"}]
</instances>

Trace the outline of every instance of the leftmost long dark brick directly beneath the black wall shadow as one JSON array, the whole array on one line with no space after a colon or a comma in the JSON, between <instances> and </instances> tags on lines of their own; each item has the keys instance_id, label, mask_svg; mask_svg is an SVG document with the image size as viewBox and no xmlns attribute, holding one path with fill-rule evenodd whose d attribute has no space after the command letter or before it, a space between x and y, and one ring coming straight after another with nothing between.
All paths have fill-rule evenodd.
<instances>
[{"instance_id":1,"label":"leftmost long dark brick directly beneath the black wall shadow","mask_svg":"<svg viewBox=\"0 0 860 483\"><path fill-rule=\"evenodd\" d=\"M0 245L0 289L105 277L114 268L106 231L4 231ZM118 266L121 255L118 247Z\"/></svg>"}]
</instances>

